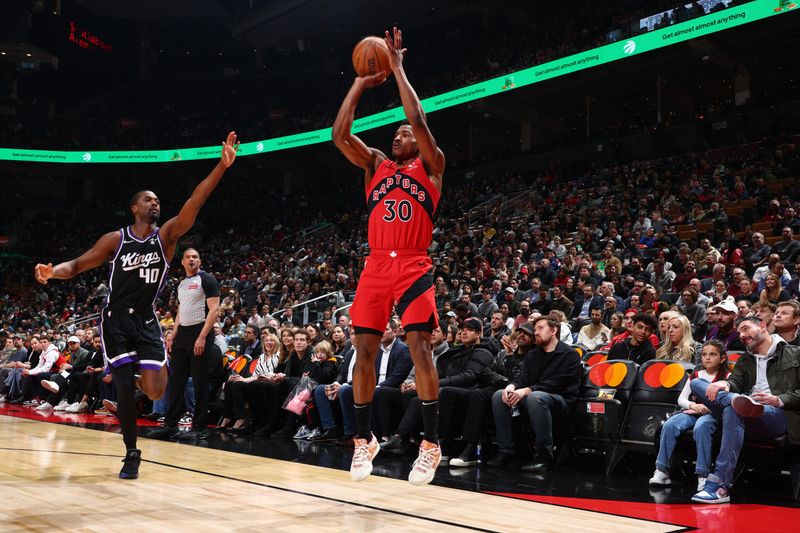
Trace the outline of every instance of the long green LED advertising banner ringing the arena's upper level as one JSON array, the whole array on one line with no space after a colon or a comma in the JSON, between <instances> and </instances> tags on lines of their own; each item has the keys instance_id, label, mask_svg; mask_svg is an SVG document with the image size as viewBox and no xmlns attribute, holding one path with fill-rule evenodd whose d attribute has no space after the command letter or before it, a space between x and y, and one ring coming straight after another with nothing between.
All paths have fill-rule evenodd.
<instances>
[{"instance_id":1,"label":"long green LED advertising banner ringing the arena's upper level","mask_svg":"<svg viewBox=\"0 0 800 533\"><path fill-rule=\"evenodd\" d=\"M499 78L462 87L438 96L422 100L426 113L464 104L479 98L511 91L578 72L612 61L619 61L637 56L652 50L664 48L680 42L702 37L711 33L736 28L744 24L756 22L774 15L787 13L795 9L794 4L778 0L755 0L747 4L728 8L718 13L711 13L693 20L673 24L665 28L651 31L644 35L632 37L586 52L573 54L555 61L536 65ZM353 131L367 131L387 124L400 122L405 118L402 107L376 113L356 120ZM331 128L297 133L274 139L265 139L242 143L240 156L258 155L266 152L287 150L310 144L331 140ZM203 146L195 148L175 148L171 150L147 151L69 151L28 150L25 148L0 148L0 159L11 161L33 161L40 163L166 163L172 161L189 161L196 159L215 159L220 155L219 146Z\"/></svg>"}]
</instances>

